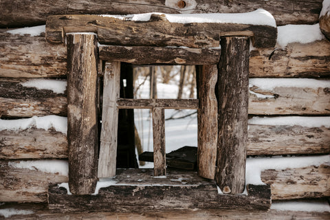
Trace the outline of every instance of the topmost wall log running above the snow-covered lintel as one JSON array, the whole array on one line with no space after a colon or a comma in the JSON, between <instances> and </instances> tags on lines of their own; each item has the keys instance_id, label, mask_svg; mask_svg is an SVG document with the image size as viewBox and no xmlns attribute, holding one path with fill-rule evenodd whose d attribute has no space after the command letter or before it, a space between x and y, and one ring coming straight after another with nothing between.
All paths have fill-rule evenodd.
<instances>
[{"instance_id":1,"label":"topmost wall log running above the snow-covered lintel","mask_svg":"<svg viewBox=\"0 0 330 220\"><path fill-rule=\"evenodd\" d=\"M164 13L239 13L264 8L276 19L277 25L317 23L322 0L295 1L178 1L122 0L122 1L23 1L3 0L0 8L0 28L26 27L45 24L50 14L137 14L148 12Z\"/></svg>"}]
</instances>

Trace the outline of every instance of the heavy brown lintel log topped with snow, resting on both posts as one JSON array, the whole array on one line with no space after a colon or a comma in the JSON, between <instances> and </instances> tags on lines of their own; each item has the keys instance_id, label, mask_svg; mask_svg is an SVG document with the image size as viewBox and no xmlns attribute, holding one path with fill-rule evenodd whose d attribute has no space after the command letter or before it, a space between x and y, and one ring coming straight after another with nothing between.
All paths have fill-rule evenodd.
<instances>
[{"instance_id":1,"label":"heavy brown lintel log topped with snow, resting on both posts","mask_svg":"<svg viewBox=\"0 0 330 220\"><path fill-rule=\"evenodd\" d=\"M129 28L128 28L129 27ZM47 18L46 39L64 43L69 32L95 32L98 41L122 46L219 47L220 36L252 36L254 47L274 47L277 28L238 23L170 23L152 14L149 21L132 21L99 15L54 15Z\"/></svg>"}]
</instances>

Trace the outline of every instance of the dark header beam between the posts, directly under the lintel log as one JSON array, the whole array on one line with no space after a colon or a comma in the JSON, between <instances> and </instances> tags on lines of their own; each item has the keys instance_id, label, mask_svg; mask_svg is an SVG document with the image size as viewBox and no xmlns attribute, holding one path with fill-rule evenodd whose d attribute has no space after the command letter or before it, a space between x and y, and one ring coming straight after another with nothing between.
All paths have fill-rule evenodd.
<instances>
[{"instance_id":1,"label":"dark header beam between the posts, directly under the lintel log","mask_svg":"<svg viewBox=\"0 0 330 220\"><path fill-rule=\"evenodd\" d=\"M221 49L186 47L100 46L100 59L134 65L175 64L208 65L219 63Z\"/></svg>"}]
</instances>

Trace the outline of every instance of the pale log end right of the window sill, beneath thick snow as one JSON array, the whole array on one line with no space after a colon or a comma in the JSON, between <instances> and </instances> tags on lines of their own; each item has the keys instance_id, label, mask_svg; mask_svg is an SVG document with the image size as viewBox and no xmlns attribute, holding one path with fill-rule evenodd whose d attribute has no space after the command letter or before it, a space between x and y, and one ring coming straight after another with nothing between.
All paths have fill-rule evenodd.
<instances>
[{"instance_id":1,"label":"pale log end right of the window sill, beneath thick snow","mask_svg":"<svg viewBox=\"0 0 330 220\"><path fill-rule=\"evenodd\" d=\"M264 170L261 172L261 180L271 184L272 200L329 197L329 165Z\"/></svg>"}]
</instances>

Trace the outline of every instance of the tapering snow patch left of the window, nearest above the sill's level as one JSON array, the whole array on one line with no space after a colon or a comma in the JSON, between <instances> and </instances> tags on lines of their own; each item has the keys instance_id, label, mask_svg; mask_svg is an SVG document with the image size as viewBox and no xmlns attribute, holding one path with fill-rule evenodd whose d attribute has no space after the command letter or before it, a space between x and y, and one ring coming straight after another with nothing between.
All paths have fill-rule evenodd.
<instances>
[{"instance_id":1,"label":"tapering snow patch left of the window, nearest above the sill's level","mask_svg":"<svg viewBox=\"0 0 330 220\"><path fill-rule=\"evenodd\" d=\"M26 168L29 170L41 170L46 173L58 173L63 176L68 176L69 173L67 161L60 159L39 159L8 162L8 165L14 168Z\"/></svg>"}]
</instances>

